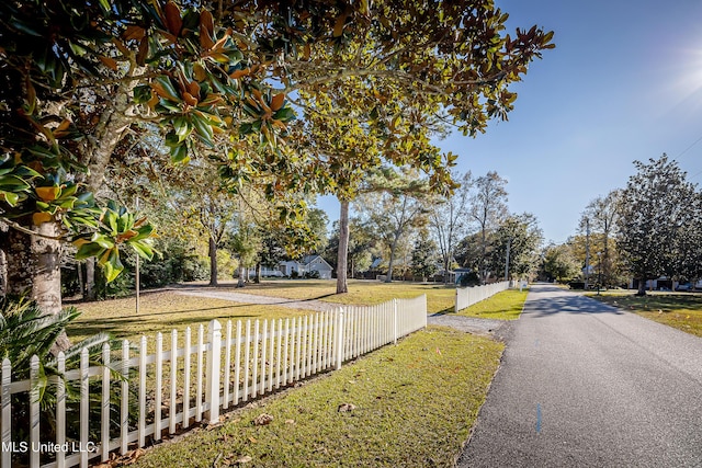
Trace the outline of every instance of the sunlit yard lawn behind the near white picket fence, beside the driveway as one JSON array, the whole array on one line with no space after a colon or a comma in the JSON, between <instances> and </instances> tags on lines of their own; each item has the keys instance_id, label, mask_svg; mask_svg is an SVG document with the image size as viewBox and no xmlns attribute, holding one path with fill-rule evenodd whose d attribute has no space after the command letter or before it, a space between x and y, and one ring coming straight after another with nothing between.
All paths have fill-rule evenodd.
<instances>
[{"instance_id":1,"label":"sunlit yard lawn behind the near white picket fence, beside the driveway","mask_svg":"<svg viewBox=\"0 0 702 468\"><path fill-rule=\"evenodd\" d=\"M417 283L349 282L349 293L336 295L335 281L271 281L260 285L250 285L242 289L223 286L217 289L235 290L291 299L320 299L340 305L374 305L393 298L412 298L427 294L429 312L451 310L455 289L443 285ZM141 335L149 338L149 350L156 333L170 333L176 329L180 333L191 327L193 340L199 324L207 324L212 319L256 320L298 317L314 313L312 310L291 309L280 306L237 304L223 299L184 296L176 292L146 293L140 298L139 313L136 313L135 298L111 299L81 303L75 306L82 312L71 323L67 333L72 342L99 332L106 332L117 339L132 342ZM206 330L205 330L206 331ZM166 336L165 339L170 340Z\"/></svg>"}]
</instances>

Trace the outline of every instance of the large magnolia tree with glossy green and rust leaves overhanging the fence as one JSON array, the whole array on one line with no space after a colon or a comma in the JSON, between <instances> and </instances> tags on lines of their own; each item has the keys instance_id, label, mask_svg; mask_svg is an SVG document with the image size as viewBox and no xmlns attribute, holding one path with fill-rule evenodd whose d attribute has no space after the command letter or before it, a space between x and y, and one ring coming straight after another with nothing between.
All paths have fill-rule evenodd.
<instances>
[{"instance_id":1,"label":"large magnolia tree with glossy green and rust leaves overhanging the fence","mask_svg":"<svg viewBox=\"0 0 702 468\"><path fill-rule=\"evenodd\" d=\"M331 0L2 2L8 292L29 289L57 312L66 241L78 259L95 258L107 279L123 270L123 247L154 254L146 219L93 196L134 133L156 134L174 163L208 148L233 190L263 178L270 197L303 189L348 201L383 160L450 187L454 157L428 142L432 127L446 122L473 135L505 118L516 99L508 85L553 47L553 33L534 26L512 36L506 20L490 0L373 9ZM314 122L307 151L305 140L291 145L299 136L291 96ZM358 139L337 141L344 135ZM259 150L242 150L242 140ZM301 215L298 205L281 208L283 218Z\"/></svg>"}]
</instances>

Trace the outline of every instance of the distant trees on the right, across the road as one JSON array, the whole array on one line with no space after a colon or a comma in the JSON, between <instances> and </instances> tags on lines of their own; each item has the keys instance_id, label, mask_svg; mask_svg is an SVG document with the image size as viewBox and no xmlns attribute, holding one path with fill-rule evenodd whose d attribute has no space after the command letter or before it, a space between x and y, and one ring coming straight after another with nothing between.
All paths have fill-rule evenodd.
<instances>
[{"instance_id":1,"label":"distant trees on the right, across the road","mask_svg":"<svg viewBox=\"0 0 702 468\"><path fill-rule=\"evenodd\" d=\"M625 187L588 204L576 236L545 249L543 274L603 287L631 282L638 295L661 276L692 284L702 277L699 187L665 153L634 167Z\"/></svg>"}]
</instances>

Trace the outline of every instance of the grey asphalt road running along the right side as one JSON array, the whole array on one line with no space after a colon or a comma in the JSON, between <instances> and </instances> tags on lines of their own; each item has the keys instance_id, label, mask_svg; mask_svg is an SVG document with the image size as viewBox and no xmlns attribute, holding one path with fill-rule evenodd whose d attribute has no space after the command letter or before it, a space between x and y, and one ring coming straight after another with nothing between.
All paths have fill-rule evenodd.
<instances>
[{"instance_id":1,"label":"grey asphalt road running along the right side","mask_svg":"<svg viewBox=\"0 0 702 468\"><path fill-rule=\"evenodd\" d=\"M531 288L460 467L702 467L702 339Z\"/></svg>"}]
</instances>

